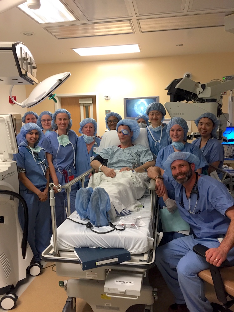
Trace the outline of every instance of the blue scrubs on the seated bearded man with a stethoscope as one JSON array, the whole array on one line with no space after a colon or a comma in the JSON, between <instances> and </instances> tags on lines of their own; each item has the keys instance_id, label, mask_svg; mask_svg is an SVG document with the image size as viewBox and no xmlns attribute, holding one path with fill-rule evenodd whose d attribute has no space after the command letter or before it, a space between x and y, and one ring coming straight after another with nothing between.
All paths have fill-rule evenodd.
<instances>
[{"instance_id":1,"label":"blue scrubs on the seated bearded man with a stethoscope","mask_svg":"<svg viewBox=\"0 0 234 312\"><path fill-rule=\"evenodd\" d=\"M181 217L189 223L198 238L193 235L170 241L157 249L157 267L168 287L176 298L176 303L186 303L190 312L212 312L212 307L205 297L204 283L197 274L208 269L208 263L193 252L193 246L203 244L217 248L220 243L217 237L227 232L230 219L225 216L227 208L233 206L233 198L227 188L217 180L201 175L197 182L199 198L194 213L189 210L189 201L185 189L173 178L163 175L165 186L175 189L176 203ZM184 208L180 205L183 191ZM190 209L193 211L197 196L193 194ZM227 259L234 265L234 248Z\"/></svg>"}]
</instances>

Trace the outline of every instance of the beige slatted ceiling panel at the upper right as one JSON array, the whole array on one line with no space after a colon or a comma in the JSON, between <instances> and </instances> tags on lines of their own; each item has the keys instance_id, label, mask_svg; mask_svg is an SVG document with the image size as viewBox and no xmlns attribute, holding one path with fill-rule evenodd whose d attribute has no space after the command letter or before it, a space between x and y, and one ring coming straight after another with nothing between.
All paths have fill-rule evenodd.
<instances>
[{"instance_id":1,"label":"beige slatted ceiling panel at the upper right","mask_svg":"<svg viewBox=\"0 0 234 312\"><path fill-rule=\"evenodd\" d=\"M224 26L225 13L196 14L139 20L141 32Z\"/></svg>"}]
</instances>

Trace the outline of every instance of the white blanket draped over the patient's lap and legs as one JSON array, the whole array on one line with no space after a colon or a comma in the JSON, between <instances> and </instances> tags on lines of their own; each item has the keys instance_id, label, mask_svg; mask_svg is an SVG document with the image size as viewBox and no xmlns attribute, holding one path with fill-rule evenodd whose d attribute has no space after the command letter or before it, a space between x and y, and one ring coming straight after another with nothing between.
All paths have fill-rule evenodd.
<instances>
[{"instance_id":1,"label":"white blanket draped over the patient's lap and legs","mask_svg":"<svg viewBox=\"0 0 234 312\"><path fill-rule=\"evenodd\" d=\"M136 173L130 171L115 170L114 178L107 177L103 172L95 173L89 180L88 187L104 188L110 196L111 219L116 217L115 209L134 211L141 204L137 199L141 198L145 191L147 179L146 173Z\"/></svg>"}]
</instances>

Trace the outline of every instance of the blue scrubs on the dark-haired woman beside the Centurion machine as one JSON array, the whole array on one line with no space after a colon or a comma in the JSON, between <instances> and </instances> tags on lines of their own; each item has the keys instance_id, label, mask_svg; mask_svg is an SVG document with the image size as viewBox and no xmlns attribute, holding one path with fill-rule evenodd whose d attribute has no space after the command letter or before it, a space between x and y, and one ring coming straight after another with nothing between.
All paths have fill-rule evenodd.
<instances>
[{"instance_id":1,"label":"blue scrubs on the dark-haired woman beside the Centurion machine","mask_svg":"<svg viewBox=\"0 0 234 312\"><path fill-rule=\"evenodd\" d=\"M34 153L36 157L37 153ZM44 150L38 153L41 161L45 158ZM36 162L32 156L31 150L29 151L25 146L19 147L19 153L14 154L14 160L17 161L17 166L25 168L26 177L38 188L41 192L46 188L47 180L44 172L46 168L43 164ZM46 167L48 166L47 160L43 161ZM44 172L43 172L43 170ZM25 199L28 207L28 243L32 249L35 261L41 260L41 253L49 246L50 243L50 204L49 199L46 202L41 202L37 195L29 191L22 182L20 182L20 195ZM23 208L19 206L19 221L21 227L24 227L24 213Z\"/></svg>"}]
</instances>

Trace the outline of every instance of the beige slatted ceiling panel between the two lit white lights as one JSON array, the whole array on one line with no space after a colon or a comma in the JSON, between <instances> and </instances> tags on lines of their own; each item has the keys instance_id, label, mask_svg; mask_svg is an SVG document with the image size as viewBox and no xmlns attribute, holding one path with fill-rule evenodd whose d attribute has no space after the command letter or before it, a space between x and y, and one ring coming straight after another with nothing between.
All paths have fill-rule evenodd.
<instances>
[{"instance_id":1,"label":"beige slatted ceiling panel between the two lit white lights","mask_svg":"<svg viewBox=\"0 0 234 312\"><path fill-rule=\"evenodd\" d=\"M45 27L58 39L132 34L130 21Z\"/></svg>"}]
</instances>

